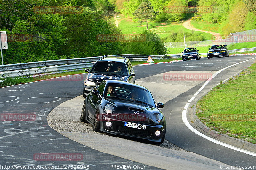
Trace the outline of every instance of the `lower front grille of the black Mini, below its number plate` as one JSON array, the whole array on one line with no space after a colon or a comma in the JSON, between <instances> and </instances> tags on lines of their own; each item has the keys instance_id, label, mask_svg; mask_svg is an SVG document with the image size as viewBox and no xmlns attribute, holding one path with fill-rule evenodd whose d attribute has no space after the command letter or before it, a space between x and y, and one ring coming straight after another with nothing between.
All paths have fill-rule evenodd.
<instances>
[{"instance_id":1,"label":"lower front grille of the black Mini, below its number plate","mask_svg":"<svg viewBox=\"0 0 256 170\"><path fill-rule=\"evenodd\" d=\"M117 130L120 133L134 135L134 136L138 136L138 137L150 137L152 134L148 130L136 129L136 128L125 127L125 126L118 126Z\"/></svg>"}]
</instances>

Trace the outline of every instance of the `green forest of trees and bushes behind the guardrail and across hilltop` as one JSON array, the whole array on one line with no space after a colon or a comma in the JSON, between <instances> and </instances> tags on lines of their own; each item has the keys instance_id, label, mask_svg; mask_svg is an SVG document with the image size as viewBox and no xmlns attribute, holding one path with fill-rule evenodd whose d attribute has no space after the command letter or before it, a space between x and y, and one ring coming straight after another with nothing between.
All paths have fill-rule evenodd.
<instances>
[{"instance_id":1,"label":"green forest of trees and bushes behind the guardrail and across hilltop","mask_svg":"<svg viewBox=\"0 0 256 170\"><path fill-rule=\"evenodd\" d=\"M181 10L175 11L177 7ZM212 11L191 13L186 10L191 7L211 7ZM8 35L4 64L115 54L166 54L161 38L147 29L134 37L141 36L143 41L99 41L99 35L126 36L116 27L114 13L140 24L175 23L200 16L202 21L220 24L223 35L256 27L255 0L4 0L0 11L0 31Z\"/></svg>"}]
</instances>

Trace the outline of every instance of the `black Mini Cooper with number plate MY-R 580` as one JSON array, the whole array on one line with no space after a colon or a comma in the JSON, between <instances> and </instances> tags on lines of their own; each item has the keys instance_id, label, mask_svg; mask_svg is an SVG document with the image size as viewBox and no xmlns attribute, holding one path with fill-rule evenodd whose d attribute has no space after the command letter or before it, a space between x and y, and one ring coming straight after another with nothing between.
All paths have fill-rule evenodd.
<instances>
[{"instance_id":1,"label":"black Mini Cooper with number plate MY-R 580","mask_svg":"<svg viewBox=\"0 0 256 170\"><path fill-rule=\"evenodd\" d=\"M80 121L94 131L147 139L162 144L166 132L163 103L155 103L151 92L133 83L102 81L84 100Z\"/></svg>"}]
</instances>

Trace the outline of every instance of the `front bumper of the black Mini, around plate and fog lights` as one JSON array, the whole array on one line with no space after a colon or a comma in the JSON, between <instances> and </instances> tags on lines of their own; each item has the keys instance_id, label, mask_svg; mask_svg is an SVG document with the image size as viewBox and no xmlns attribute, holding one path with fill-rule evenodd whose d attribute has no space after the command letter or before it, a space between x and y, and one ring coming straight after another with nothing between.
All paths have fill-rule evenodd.
<instances>
[{"instance_id":1,"label":"front bumper of the black Mini, around plate and fog lights","mask_svg":"<svg viewBox=\"0 0 256 170\"><path fill-rule=\"evenodd\" d=\"M146 139L148 141L152 142L161 142L162 137L164 135L164 125L148 125L140 122L134 122L138 124L144 124L146 125L146 129L136 129L131 127L124 126L125 121L117 120L114 117L107 118L108 115L102 115L102 121L100 121L100 131L114 134L114 135L124 135L129 137L136 137L140 139ZM107 120L106 120L107 118ZM106 122L109 121L112 123L111 127L106 126ZM132 122L132 121L128 121ZM159 136L155 135L156 130L159 130L161 133Z\"/></svg>"}]
</instances>

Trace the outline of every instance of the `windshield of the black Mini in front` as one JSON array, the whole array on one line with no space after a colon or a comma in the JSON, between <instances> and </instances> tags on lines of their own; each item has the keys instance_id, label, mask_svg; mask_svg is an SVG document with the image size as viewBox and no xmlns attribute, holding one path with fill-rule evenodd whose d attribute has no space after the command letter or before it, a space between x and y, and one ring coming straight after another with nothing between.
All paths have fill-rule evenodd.
<instances>
[{"instance_id":1,"label":"windshield of the black Mini in front","mask_svg":"<svg viewBox=\"0 0 256 170\"><path fill-rule=\"evenodd\" d=\"M105 88L104 97L129 100L156 107L153 96L149 91L131 85L108 84Z\"/></svg>"}]
</instances>

